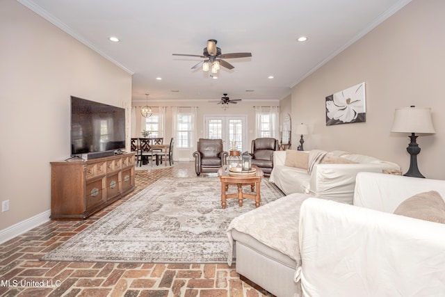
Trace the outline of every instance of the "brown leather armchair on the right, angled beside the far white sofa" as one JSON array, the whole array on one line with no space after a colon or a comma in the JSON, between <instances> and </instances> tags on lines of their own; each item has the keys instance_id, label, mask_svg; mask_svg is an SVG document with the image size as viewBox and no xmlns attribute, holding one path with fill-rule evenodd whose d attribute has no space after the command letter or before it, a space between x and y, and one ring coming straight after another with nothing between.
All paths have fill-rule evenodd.
<instances>
[{"instance_id":1,"label":"brown leather armchair on the right, angled beside the far white sofa","mask_svg":"<svg viewBox=\"0 0 445 297\"><path fill-rule=\"evenodd\" d=\"M278 150L278 140L275 138L257 138L252 141L252 165L263 170L264 175L270 175L273 169L273 152Z\"/></svg>"}]
</instances>

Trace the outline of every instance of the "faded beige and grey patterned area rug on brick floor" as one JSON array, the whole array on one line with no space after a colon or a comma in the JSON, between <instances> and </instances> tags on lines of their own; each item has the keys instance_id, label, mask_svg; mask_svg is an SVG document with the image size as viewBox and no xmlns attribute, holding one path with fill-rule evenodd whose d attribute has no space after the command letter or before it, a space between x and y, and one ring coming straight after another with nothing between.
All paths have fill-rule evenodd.
<instances>
[{"instance_id":1,"label":"faded beige and grey patterned area rug on brick floor","mask_svg":"<svg viewBox=\"0 0 445 297\"><path fill-rule=\"evenodd\" d=\"M250 186L243 187L250 191ZM229 186L236 193L236 186ZM221 208L218 177L163 177L42 259L70 262L225 263L230 221L254 200ZM266 179L261 204L283 194Z\"/></svg>"}]
</instances>

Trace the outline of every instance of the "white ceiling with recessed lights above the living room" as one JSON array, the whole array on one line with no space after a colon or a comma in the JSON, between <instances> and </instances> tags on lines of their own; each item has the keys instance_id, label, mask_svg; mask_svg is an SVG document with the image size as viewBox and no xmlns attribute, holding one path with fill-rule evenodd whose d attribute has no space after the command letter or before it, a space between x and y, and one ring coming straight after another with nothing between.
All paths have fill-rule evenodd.
<instances>
[{"instance_id":1,"label":"white ceiling with recessed lights above the living room","mask_svg":"<svg viewBox=\"0 0 445 297\"><path fill-rule=\"evenodd\" d=\"M17 0L133 74L133 102L282 99L292 86L410 0ZM297 42L302 35L307 42ZM120 38L114 43L110 36ZM226 61L218 79L191 70L208 39ZM274 79L268 79L273 75ZM161 77L162 80L156 80ZM179 92L172 92L179 90ZM246 90L254 90L246 92Z\"/></svg>"}]
</instances>

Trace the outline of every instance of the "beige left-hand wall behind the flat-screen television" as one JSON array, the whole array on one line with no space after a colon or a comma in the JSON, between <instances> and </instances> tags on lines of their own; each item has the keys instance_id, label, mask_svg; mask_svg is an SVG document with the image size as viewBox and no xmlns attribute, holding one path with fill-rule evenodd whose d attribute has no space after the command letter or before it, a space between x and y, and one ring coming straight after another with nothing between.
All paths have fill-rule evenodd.
<instances>
[{"instance_id":1,"label":"beige left-hand wall behind the flat-screen television","mask_svg":"<svg viewBox=\"0 0 445 297\"><path fill-rule=\"evenodd\" d=\"M0 33L1 233L51 208L49 162L70 156L70 95L131 106L131 75L17 1L1 1Z\"/></svg>"}]
</instances>

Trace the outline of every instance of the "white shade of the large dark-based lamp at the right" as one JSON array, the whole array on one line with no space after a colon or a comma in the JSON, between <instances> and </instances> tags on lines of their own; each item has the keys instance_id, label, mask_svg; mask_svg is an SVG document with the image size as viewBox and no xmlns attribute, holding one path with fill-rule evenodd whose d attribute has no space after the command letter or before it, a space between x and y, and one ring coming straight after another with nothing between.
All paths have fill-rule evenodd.
<instances>
[{"instance_id":1,"label":"white shade of the large dark-based lamp at the right","mask_svg":"<svg viewBox=\"0 0 445 297\"><path fill-rule=\"evenodd\" d=\"M391 132L436 133L432 127L429 107L403 107L396 109Z\"/></svg>"}]
</instances>

